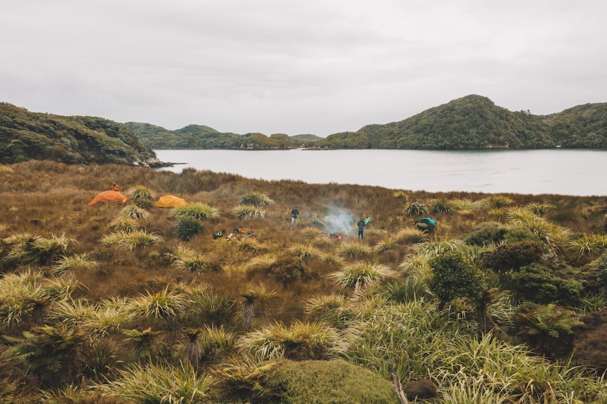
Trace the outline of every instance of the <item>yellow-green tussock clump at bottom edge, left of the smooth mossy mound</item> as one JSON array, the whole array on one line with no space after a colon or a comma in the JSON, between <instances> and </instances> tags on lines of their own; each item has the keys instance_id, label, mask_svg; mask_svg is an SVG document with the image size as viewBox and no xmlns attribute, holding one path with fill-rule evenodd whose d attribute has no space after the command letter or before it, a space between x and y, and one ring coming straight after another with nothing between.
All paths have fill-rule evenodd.
<instances>
[{"instance_id":1,"label":"yellow-green tussock clump at bottom edge, left of the smooth mossy mound","mask_svg":"<svg viewBox=\"0 0 607 404\"><path fill-rule=\"evenodd\" d=\"M121 370L109 383L97 385L106 394L137 403L202 403L208 398L212 378L192 366L150 363Z\"/></svg>"}]
</instances>

